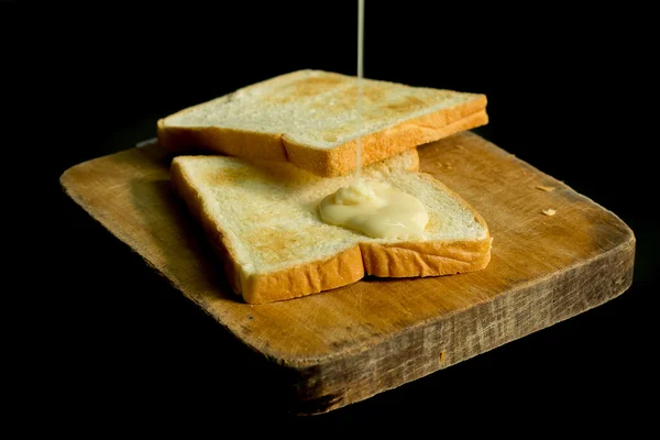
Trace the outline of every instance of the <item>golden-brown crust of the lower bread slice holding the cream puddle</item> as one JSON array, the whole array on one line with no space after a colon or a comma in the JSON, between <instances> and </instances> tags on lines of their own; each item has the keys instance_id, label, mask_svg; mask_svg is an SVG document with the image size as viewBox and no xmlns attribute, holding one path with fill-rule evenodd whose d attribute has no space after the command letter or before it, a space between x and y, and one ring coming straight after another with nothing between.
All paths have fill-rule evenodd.
<instances>
[{"instance_id":1,"label":"golden-brown crust of the lower bread slice holding the cream puddle","mask_svg":"<svg viewBox=\"0 0 660 440\"><path fill-rule=\"evenodd\" d=\"M419 160L411 168L419 166ZM292 299L352 284L365 274L380 277L438 276L479 271L491 260L490 232L485 220L465 200L428 174L421 174L433 185L450 193L469 209L486 229L483 240L451 242L364 242L331 256L287 267L267 274L246 274L232 249L227 233L206 210L200 195L174 161L172 185L193 216L199 221L224 265L227 279L234 293L249 304L265 304Z\"/></svg>"}]
</instances>

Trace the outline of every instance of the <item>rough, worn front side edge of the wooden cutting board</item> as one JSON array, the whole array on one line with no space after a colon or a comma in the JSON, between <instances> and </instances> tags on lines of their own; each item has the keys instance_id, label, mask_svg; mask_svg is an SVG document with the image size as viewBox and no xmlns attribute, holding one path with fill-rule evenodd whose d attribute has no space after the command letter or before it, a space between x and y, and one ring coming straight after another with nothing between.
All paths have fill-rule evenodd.
<instances>
[{"instance_id":1,"label":"rough, worn front side edge of the wooden cutting board","mask_svg":"<svg viewBox=\"0 0 660 440\"><path fill-rule=\"evenodd\" d=\"M630 234L628 241L583 264L443 319L424 322L369 352L300 369L299 382L294 385L299 393L290 403L293 411L322 414L364 400L601 306L630 287L635 244ZM522 319L524 315L539 310L546 312L540 323L525 326L535 321ZM498 332L497 326L483 328L480 321L522 324ZM453 331L457 328L469 331L458 337ZM418 366L410 370L409 365ZM384 373L371 374L374 369ZM338 376L341 382L336 381Z\"/></svg>"}]
</instances>

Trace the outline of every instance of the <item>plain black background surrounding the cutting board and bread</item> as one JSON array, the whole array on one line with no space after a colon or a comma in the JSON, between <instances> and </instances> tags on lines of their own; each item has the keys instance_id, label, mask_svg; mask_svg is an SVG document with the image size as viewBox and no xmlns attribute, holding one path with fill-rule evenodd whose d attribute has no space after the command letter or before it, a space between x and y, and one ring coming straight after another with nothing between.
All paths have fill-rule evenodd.
<instances>
[{"instance_id":1,"label":"plain black background surrounding the cutting board and bread","mask_svg":"<svg viewBox=\"0 0 660 440\"><path fill-rule=\"evenodd\" d=\"M528 424L535 432L646 426L646 397L657 392L656 53L650 12L616 4L367 2L365 76L486 94L491 122L480 134L632 228L635 283L550 329L304 419L264 409L275 391L257 380L257 360L70 202L57 179L153 138L158 118L254 81L299 68L354 74L355 2L22 8L25 28L12 28L11 47L29 66L15 84L28 79L21 90L45 99L50 116L25 133L38 134L48 156L41 165L56 224L44 277L57 307L37 338L43 387L25 408L68 428L193 420L256 429L253 420L276 419L529 435ZM18 9L2 9L8 25Z\"/></svg>"}]
</instances>

